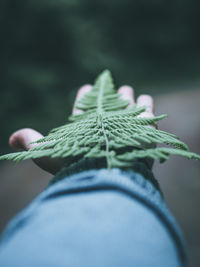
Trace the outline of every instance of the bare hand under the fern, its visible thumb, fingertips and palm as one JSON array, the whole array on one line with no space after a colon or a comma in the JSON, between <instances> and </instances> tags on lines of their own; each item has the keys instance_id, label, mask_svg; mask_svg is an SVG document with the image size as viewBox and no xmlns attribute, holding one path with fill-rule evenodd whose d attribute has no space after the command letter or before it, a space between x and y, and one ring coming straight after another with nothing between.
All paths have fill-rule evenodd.
<instances>
[{"instance_id":1,"label":"bare hand under the fern, its visible thumb, fingertips and palm","mask_svg":"<svg viewBox=\"0 0 200 267\"><path fill-rule=\"evenodd\" d=\"M92 89L91 85L85 85L85 86L81 87L77 92L75 104L83 95L88 93L91 89ZM122 86L119 88L118 93L121 94L121 97L123 99L130 101L130 104L127 108L129 108L130 106L135 104L134 90L132 87ZM74 104L72 114L81 114L83 111L75 108L75 104ZM140 95L137 98L136 104L138 107L141 107L141 106L147 107L146 111L139 115L140 117L143 117L143 118L148 117L149 118L149 117L154 116L154 114L153 114L154 103L153 103L153 98L150 95ZM33 129L25 128L25 129L21 129L21 130L14 132L10 136L9 144L16 151L29 150L29 149L37 146L37 144L30 144L30 143L36 142L37 140L41 139L42 137L43 137L43 135L40 134L39 132L37 132ZM39 159L34 159L33 161L40 168L42 168L43 170L50 172L52 174L57 173L61 169L61 167L63 166L63 160L59 159L59 158L53 159L50 157L43 157L43 158L39 158Z\"/></svg>"}]
</instances>

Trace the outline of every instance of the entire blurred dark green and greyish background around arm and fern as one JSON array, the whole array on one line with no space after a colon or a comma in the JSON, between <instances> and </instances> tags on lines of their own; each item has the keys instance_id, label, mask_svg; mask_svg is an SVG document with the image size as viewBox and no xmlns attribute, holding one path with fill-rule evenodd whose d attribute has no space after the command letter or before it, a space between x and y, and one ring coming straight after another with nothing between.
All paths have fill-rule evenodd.
<instances>
[{"instance_id":1,"label":"entire blurred dark green and greyish background around arm and fern","mask_svg":"<svg viewBox=\"0 0 200 267\"><path fill-rule=\"evenodd\" d=\"M1 0L0 154L22 127L47 134L67 121L77 89L105 68L116 86L152 94L160 128L200 153L200 1ZM180 223L189 266L200 265L200 164L154 167ZM48 183L31 161L0 162L0 229Z\"/></svg>"}]
</instances>

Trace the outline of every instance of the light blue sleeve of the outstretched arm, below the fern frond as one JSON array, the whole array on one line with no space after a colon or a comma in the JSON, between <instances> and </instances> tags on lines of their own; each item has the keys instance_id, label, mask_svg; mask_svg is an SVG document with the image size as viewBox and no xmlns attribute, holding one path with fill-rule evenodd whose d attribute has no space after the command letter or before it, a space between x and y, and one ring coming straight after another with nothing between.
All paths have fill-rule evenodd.
<instances>
[{"instance_id":1,"label":"light blue sleeve of the outstretched arm, below the fern frond","mask_svg":"<svg viewBox=\"0 0 200 267\"><path fill-rule=\"evenodd\" d=\"M185 265L180 230L141 174L90 170L47 187L6 227L2 267Z\"/></svg>"}]
</instances>

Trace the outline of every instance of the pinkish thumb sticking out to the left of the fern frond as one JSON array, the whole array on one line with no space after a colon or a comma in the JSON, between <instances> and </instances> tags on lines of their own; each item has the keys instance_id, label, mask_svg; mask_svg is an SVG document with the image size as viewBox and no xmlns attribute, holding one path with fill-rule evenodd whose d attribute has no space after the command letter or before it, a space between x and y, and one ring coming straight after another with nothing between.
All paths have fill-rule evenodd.
<instances>
[{"instance_id":1,"label":"pinkish thumb sticking out to the left of the fern frond","mask_svg":"<svg viewBox=\"0 0 200 267\"><path fill-rule=\"evenodd\" d=\"M43 135L39 132L30 128L25 128L13 133L9 139L9 144L14 150L17 151L29 150L37 145L30 143L35 142L42 137Z\"/></svg>"}]
</instances>

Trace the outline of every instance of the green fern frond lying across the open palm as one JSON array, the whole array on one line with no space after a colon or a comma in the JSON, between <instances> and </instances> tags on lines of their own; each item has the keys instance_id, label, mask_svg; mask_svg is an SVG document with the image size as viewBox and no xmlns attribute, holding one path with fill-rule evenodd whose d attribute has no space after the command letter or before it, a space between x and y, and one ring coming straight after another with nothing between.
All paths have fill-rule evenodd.
<instances>
[{"instance_id":1,"label":"green fern frond lying across the open palm","mask_svg":"<svg viewBox=\"0 0 200 267\"><path fill-rule=\"evenodd\" d=\"M135 158L153 158L160 161L169 155L180 155L199 159L189 152L186 144L173 134L149 127L166 115L153 118L138 117L145 107L134 105L120 98L115 91L111 74L104 71L96 80L92 90L80 99L77 108L84 111L72 115L71 123L53 129L49 135L38 140L37 147L0 157L20 161L49 156L66 158L106 158L107 167L128 167ZM164 143L173 148L152 148Z\"/></svg>"}]
</instances>

